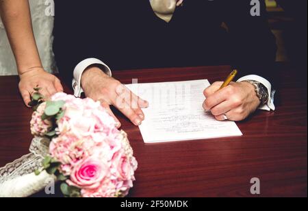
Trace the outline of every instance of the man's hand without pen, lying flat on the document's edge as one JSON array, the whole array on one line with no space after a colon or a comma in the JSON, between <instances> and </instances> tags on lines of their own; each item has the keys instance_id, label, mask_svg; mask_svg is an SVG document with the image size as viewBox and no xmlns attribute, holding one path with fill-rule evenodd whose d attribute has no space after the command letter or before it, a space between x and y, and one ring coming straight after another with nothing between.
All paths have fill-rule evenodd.
<instances>
[{"instance_id":1,"label":"man's hand without pen, lying flat on the document's edge","mask_svg":"<svg viewBox=\"0 0 308 211\"><path fill-rule=\"evenodd\" d=\"M141 108L149 106L147 101L134 95L116 79L106 75L97 67L90 67L81 77L81 86L86 97L101 101L103 107L114 117L120 127L120 121L114 116L110 105L118 108L134 125L141 125L144 113Z\"/></svg>"}]
</instances>

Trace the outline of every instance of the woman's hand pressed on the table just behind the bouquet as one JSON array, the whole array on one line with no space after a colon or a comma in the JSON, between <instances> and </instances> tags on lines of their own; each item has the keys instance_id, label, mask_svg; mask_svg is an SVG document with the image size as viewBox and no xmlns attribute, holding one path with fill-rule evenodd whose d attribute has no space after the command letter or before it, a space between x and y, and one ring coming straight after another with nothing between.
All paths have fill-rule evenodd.
<instances>
[{"instance_id":1,"label":"woman's hand pressed on the table just behind the bouquet","mask_svg":"<svg viewBox=\"0 0 308 211\"><path fill-rule=\"evenodd\" d=\"M19 82L19 91L23 97L25 105L29 107L31 101L31 93L34 92L34 88L41 88L40 94L45 99L51 97L56 92L63 92L61 82L54 75L47 73L42 68L31 69L20 75L21 81Z\"/></svg>"}]
</instances>

